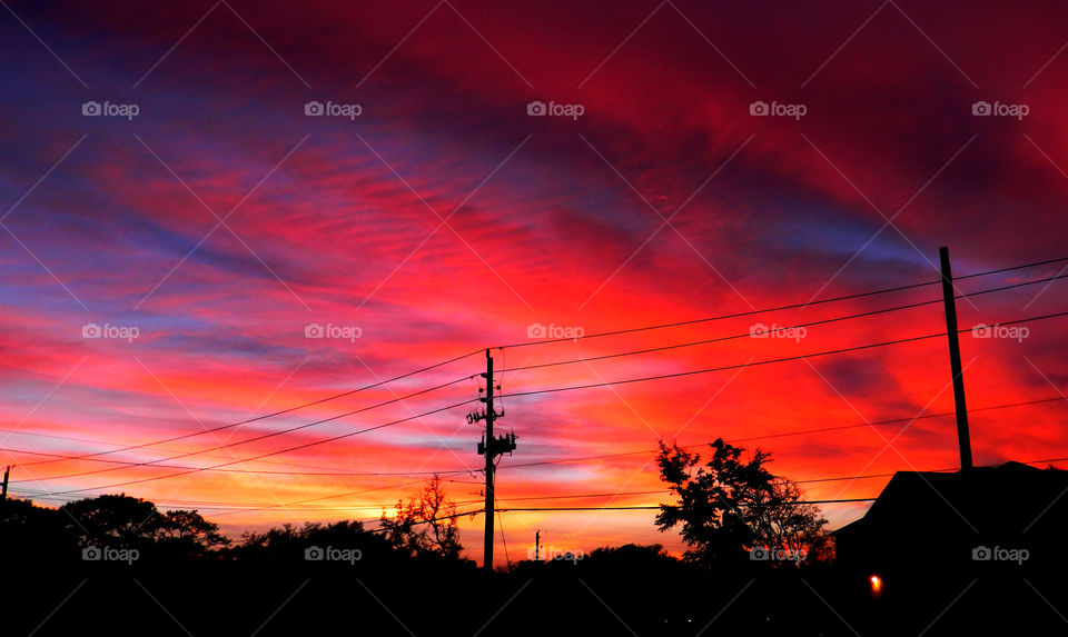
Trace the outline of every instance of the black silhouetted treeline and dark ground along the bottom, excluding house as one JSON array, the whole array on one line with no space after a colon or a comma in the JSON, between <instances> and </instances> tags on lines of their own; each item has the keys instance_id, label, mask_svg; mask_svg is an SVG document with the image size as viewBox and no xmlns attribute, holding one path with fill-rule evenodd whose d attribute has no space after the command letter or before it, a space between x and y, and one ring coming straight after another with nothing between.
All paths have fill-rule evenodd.
<instances>
[{"instance_id":1,"label":"black silhouetted treeline and dark ground along the bottom, excluding house","mask_svg":"<svg viewBox=\"0 0 1068 637\"><path fill-rule=\"evenodd\" d=\"M873 588L835 561L819 510L772 475L767 454L716 441L706 458L662 446L670 487L661 545L589 553L526 546L495 573L465 558L456 506L432 479L375 528L284 525L228 538L195 510L107 495L0 505L4 634L959 635L1062 624L1059 573L908 566ZM917 520L922 525L922 520ZM938 547L932 547L937 550ZM515 555L521 551L521 555ZM505 564L507 563L507 564ZM892 575L890 575L892 574ZM1060 598L1057 598L1059 601ZM46 620L47 619L47 620Z\"/></svg>"}]
</instances>

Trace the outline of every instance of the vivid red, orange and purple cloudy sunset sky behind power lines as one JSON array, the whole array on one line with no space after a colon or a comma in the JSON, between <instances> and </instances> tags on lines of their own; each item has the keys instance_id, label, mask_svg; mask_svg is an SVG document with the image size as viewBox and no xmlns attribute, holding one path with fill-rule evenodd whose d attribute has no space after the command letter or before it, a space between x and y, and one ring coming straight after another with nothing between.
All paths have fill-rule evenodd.
<instances>
[{"instance_id":1,"label":"vivid red, orange and purple cloudy sunset sky behind power lines","mask_svg":"<svg viewBox=\"0 0 1068 637\"><path fill-rule=\"evenodd\" d=\"M518 436L498 506L666 501L641 452L660 439L745 439L813 500L873 498L887 474L958 466L953 418L912 420L953 408L945 337L808 356L937 335L940 302L748 336L938 301L937 285L566 342L530 328L592 335L934 282L939 246L956 276L1068 257L1068 6L345 4L0 11L11 495L125 491L197 508L237 537L377 518L442 471L461 510L477 509L476 405L412 417L476 398L481 350L507 370L728 336L741 338L497 375L498 431ZM528 115L535 101L573 115ZM352 115L309 116L309 102ZM1066 311L1066 286L960 299L960 327ZM307 338L309 326L329 334ZM1056 400L1068 317L1015 327L1027 329L961 335L969 407L1054 400L973 412L978 465L1068 457ZM790 357L804 358L751 365ZM732 369L507 397L720 367ZM898 422L867 425L883 420ZM837 528L867 506L822 508ZM503 512L496 551L505 539L524 558L537 529L560 549L680 551L654 515ZM482 525L461 521L475 559Z\"/></svg>"}]
</instances>

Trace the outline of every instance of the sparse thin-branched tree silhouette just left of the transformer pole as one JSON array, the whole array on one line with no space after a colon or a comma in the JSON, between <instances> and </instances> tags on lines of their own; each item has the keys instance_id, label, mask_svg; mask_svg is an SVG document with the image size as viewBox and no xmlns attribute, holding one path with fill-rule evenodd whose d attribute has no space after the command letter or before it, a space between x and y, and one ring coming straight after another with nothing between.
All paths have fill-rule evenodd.
<instances>
[{"instance_id":1,"label":"sparse thin-branched tree silhouette just left of the transformer pole","mask_svg":"<svg viewBox=\"0 0 1068 637\"><path fill-rule=\"evenodd\" d=\"M434 475L417 498L397 501L393 518L382 512L379 520L386 538L413 556L459 557L459 527L456 502L445 497L445 487Z\"/></svg>"}]
</instances>

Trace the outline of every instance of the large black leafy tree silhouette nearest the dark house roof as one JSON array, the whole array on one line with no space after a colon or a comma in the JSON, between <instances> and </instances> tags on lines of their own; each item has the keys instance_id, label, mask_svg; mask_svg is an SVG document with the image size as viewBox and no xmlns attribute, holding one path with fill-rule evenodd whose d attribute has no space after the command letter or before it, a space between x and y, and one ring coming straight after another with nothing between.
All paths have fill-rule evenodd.
<instances>
[{"instance_id":1,"label":"large black leafy tree silhouette nearest the dark house roof","mask_svg":"<svg viewBox=\"0 0 1068 637\"><path fill-rule=\"evenodd\" d=\"M656 458L661 479L678 497L675 504L660 506L656 526L666 531L681 525L686 560L749 559L758 547L793 556L803 551L809 560L828 555L827 520L814 506L800 501L795 484L764 467L770 454L756 449L743 461L742 447L722 439L710 447L712 457L703 466L699 454L675 444L661 442Z\"/></svg>"}]
</instances>

